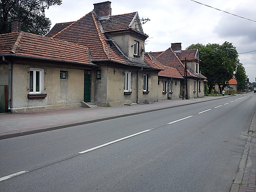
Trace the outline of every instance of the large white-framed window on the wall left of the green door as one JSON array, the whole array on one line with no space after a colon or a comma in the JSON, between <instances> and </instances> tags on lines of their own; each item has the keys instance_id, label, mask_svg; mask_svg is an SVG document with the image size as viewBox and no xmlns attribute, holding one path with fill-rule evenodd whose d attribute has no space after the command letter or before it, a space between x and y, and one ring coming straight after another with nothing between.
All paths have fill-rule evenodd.
<instances>
[{"instance_id":1,"label":"large white-framed window on the wall left of the green door","mask_svg":"<svg viewBox=\"0 0 256 192\"><path fill-rule=\"evenodd\" d=\"M30 94L41 94L43 88L43 69L30 68Z\"/></svg>"}]
</instances>

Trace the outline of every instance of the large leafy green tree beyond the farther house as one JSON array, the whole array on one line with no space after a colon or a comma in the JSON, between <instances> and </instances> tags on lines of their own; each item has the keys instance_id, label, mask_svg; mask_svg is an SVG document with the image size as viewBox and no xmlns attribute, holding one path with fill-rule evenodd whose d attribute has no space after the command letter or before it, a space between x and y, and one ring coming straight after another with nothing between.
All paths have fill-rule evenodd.
<instances>
[{"instance_id":1,"label":"large leafy green tree beyond the farther house","mask_svg":"<svg viewBox=\"0 0 256 192\"><path fill-rule=\"evenodd\" d=\"M211 90L218 84L219 90L234 76L239 64L238 53L232 43L219 44L192 44L187 49L198 49L201 60L200 70L207 77L208 87Z\"/></svg>"}]
</instances>

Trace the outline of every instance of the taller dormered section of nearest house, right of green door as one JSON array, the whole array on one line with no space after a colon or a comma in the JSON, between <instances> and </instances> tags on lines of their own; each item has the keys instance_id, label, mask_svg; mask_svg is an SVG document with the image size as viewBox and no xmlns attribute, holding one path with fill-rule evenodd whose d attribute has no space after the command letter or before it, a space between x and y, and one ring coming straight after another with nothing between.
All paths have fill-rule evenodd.
<instances>
[{"instance_id":1,"label":"taller dormered section of nearest house, right of green door","mask_svg":"<svg viewBox=\"0 0 256 192\"><path fill-rule=\"evenodd\" d=\"M49 33L52 38L88 47L91 61L100 66L89 71L91 93L85 102L115 106L158 101L154 89L161 68L144 63L144 41L148 36L142 30L138 12L112 16L110 5L110 1L95 3L92 12L55 35Z\"/></svg>"}]
</instances>

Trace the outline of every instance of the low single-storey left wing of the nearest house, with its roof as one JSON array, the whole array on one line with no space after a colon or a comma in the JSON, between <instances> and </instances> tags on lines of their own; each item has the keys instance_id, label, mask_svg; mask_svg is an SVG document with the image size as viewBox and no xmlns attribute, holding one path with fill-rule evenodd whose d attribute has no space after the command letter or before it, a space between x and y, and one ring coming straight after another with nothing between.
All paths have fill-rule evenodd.
<instances>
[{"instance_id":1,"label":"low single-storey left wing of the nearest house, with its roof","mask_svg":"<svg viewBox=\"0 0 256 192\"><path fill-rule=\"evenodd\" d=\"M99 67L87 47L31 33L1 34L0 45L0 84L7 87L2 112L78 107L84 71Z\"/></svg>"}]
</instances>

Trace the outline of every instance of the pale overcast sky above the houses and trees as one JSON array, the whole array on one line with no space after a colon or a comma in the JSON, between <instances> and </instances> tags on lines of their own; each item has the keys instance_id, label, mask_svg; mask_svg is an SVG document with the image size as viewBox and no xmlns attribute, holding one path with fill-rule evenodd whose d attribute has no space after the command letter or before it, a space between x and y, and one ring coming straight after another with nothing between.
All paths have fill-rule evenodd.
<instances>
[{"instance_id":1,"label":"pale overcast sky above the houses and trees","mask_svg":"<svg viewBox=\"0 0 256 192\"><path fill-rule=\"evenodd\" d=\"M45 16L56 23L76 21L94 9L94 3L105 0L62 0L60 6L50 6ZM146 52L164 51L171 43L182 43L185 50L191 44L220 44L228 41L236 47L239 60L250 82L256 81L256 0L109 0L112 15L138 11L149 35ZM247 19L253 20L249 21ZM254 51L254 52L252 52ZM199 56L200 57L200 56Z\"/></svg>"}]
</instances>

